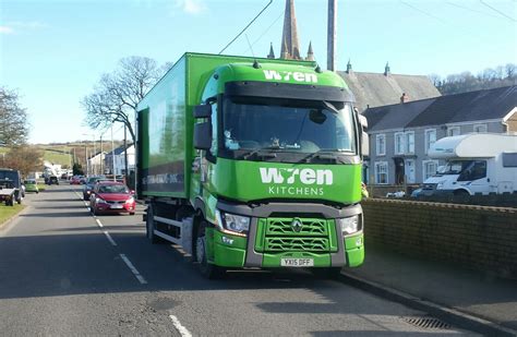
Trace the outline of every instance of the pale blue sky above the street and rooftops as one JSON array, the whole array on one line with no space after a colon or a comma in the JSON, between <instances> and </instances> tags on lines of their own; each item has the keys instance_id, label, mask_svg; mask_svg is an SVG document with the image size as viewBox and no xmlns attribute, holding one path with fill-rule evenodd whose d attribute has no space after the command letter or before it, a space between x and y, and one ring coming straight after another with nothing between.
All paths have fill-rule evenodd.
<instances>
[{"instance_id":1,"label":"pale blue sky above the street and rooftops","mask_svg":"<svg viewBox=\"0 0 517 337\"><path fill-rule=\"evenodd\" d=\"M0 86L16 89L29 143L99 139L84 96L128 56L218 53L269 0L0 0ZM447 74L517 63L517 0L337 0L337 70ZM300 45L326 68L326 0L294 0ZM226 51L280 52L285 0ZM250 48L251 46L251 48ZM122 137L121 125L115 125ZM109 137L109 131L104 134Z\"/></svg>"}]
</instances>

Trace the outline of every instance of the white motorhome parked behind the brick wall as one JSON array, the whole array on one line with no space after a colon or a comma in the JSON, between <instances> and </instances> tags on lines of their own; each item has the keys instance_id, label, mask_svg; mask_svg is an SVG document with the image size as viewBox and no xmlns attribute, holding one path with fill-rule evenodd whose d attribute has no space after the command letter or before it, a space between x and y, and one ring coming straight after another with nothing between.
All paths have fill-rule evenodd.
<instances>
[{"instance_id":1,"label":"white motorhome parked behind the brick wall","mask_svg":"<svg viewBox=\"0 0 517 337\"><path fill-rule=\"evenodd\" d=\"M422 185L423 195L517 191L517 135L471 133L444 137L429 151L446 164Z\"/></svg>"}]
</instances>

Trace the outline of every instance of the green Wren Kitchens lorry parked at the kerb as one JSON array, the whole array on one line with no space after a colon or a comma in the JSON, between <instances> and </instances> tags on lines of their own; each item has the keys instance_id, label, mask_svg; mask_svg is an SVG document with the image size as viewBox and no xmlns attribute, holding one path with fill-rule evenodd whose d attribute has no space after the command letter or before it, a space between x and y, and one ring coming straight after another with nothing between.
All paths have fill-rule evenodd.
<instances>
[{"instance_id":1,"label":"green Wren Kitchens lorry parked at the kerb","mask_svg":"<svg viewBox=\"0 0 517 337\"><path fill-rule=\"evenodd\" d=\"M364 258L365 119L315 62L185 53L137 106L137 196L153 242L208 278Z\"/></svg>"}]
</instances>

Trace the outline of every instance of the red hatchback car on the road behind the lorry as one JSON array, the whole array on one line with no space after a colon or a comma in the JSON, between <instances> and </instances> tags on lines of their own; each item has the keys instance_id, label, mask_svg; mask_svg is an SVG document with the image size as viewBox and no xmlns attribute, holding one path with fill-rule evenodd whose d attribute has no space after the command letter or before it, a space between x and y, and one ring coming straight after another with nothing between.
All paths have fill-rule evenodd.
<instances>
[{"instance_id":1,"label":"red hatchback car on the road behind the lorry","mask_svg":"<svg viewBox=\"0 0 517 337\"><path fill-rule=\"evenodd\" d=\"M121 182L98 182L89 197L89 209L95 214L100 213L129 213L134 215L136 203L134 191Z\"/></svg>"}]
</instances>

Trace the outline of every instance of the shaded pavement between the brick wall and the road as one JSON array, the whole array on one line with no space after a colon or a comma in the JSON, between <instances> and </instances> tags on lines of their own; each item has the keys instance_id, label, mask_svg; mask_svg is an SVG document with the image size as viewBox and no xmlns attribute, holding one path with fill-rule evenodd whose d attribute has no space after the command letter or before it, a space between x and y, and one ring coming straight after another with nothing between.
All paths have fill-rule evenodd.
<instances>
[{"instance_id":1,"label":"shaded pavement between the brick wall and the road","mask_svg":"<svg viewBox=\"0 0 517 337\"><path fill-rule=\"evenodd\" d=\"M517 280L369 246L349 284L483 335L517 336Z\"/></svg>"}]
</instances>

